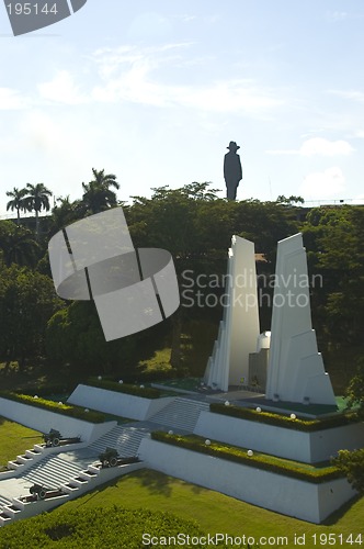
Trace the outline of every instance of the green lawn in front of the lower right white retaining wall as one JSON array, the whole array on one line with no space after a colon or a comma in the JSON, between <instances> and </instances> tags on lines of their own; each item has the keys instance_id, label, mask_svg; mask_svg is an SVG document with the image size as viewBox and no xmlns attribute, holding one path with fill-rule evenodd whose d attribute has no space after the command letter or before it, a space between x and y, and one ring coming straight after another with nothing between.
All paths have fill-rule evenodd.
<instances>
[{"instance_id":1,"label":"green lawn in front of the lower right white retaining wall","mask_svg":"<svg viewBox=\"0 0 364 549\"><path fill-rule=\"evenodd\" d=\"M174 513L182 518L195 519L205 533L246 534L249 536L288 536L306 534L363 534L364 498L348 505L344 513L337 513L325 525L312 525L213 492L150 470L141 470L113 481L55 513L67 508L122 505L126 508L147 508ZM293 546L289 544L288 547ZM284 546L274 546L284 547ZM287 546L285 546L287 547ZM306 542L306 547L314 547ZM335 547L335 546L331 546ZM338 545L337 547L350 547ZM351 546L360 547L360 546Z\"/></svg>"}]
</instances>

